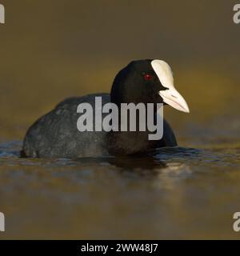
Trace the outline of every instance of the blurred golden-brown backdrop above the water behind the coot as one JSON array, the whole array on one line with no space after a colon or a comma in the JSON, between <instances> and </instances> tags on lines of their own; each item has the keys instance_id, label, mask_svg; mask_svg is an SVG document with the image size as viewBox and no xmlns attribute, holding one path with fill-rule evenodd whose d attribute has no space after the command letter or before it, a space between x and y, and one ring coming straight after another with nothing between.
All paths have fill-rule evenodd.
<instances>
[{"instance_id":1,"label":"blurred golden-brown backdrop above the water behind the coot","mask_svg":"<svg viewBox=\"0 0 240 256\"><path fill-rule=\"evenodd\" d=\"M180 142L186 123L212 122L240 106L236 1L1 3L1 141L22 140L63 98L110 91L115 74L133 59L163 59L174 70L191 111L166 108Z\"/></svg>"}]
</instances>

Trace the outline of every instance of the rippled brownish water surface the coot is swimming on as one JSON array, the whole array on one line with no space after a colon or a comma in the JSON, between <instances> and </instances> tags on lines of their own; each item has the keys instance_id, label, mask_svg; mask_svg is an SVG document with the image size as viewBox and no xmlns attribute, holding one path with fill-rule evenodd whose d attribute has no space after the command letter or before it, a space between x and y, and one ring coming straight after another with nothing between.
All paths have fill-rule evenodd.
<instances>
[{"instance_id":1,"label":"rippled brownish water surface the coot is swimming on","mask_svg":"<svg viewBox=\"0 0 240 256\"><path fill-rule=\"evenodd\" d=\"M4 238L239 238L240 147L25 159L0 146Z\"/></svg>"}]
</instances>

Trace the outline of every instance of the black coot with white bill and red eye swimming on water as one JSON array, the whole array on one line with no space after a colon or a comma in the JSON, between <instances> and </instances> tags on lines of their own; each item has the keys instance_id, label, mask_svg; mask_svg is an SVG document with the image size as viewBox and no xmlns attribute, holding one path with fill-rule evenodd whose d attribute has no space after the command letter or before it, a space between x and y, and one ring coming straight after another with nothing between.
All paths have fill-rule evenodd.
<instances>
[{"instance_id":1,"label":"black coot with white bill and red eye swimming on water","mask_svg":"<svg viewBox=\"0 0 240 256\"><path fill-rule=\"evenodd\" d=\"M22 156L30 158L80 158L117 154L139 154L162 146L177 146L173 130L164 120L163 137L149 140L149 131L82 131L77 128L80 103L95 106L95 97L102 97L102 106L115 103L164 103L177 110L189 108L174 88L170 66L161 60L130 62L115 77L110 94L90 94L67 98L54 110L39 118L27 131ZM157 109L154 108L155 114ZM120 111L121 112L121 111ZM120 113L119 112L119 113ZM102 114L102 119L106 114ZM93 121L95 114L93 114Z\"/></svg>"}]
</instances>

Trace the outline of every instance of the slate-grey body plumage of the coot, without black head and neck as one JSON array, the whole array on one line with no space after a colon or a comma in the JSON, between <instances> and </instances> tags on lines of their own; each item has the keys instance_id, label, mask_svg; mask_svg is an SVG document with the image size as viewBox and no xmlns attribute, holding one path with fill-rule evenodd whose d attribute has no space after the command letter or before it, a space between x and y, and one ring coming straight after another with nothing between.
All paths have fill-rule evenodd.
<instances>
[{"instance_id":1,"label":"slate-grey body plumage of the coot, without black head and neck","mask_svg":"<svg viewBox=\"0 0 240 256\"><path fill-rule=\"evenodd\" d=\"M22 155L31 158L108 156L110 154L109 149L115 146L108 145L111 141L108 138L110 133L105 131L80 132L77 127L79 118L77 113L78 105L87 102L95 110L95 97L102 97L102 105L110 102L110 94L90 94L82 97L67 98L60 102L54 110L39 118L26 133ZM106 115L102 114L102 118L105 118ZM93 118L94 122L94 111ZM174 132L164 120L163 138L154 147L176 145Z\"/></svg>"}]
</instances>

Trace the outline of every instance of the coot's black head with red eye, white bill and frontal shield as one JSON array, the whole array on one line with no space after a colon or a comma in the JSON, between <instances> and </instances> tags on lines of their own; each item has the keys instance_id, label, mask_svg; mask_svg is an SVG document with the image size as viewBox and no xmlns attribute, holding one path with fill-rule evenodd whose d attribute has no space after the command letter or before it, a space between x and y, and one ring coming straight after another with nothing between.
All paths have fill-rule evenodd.
<instances>
[{"instance_id":1,"label":"coot's black head with red eye, white bill and frontal shield","mask_svg":"<svg viewBox=\"0 0 240 256\"><path fill-rule=\"evenodd\" d=\"M118 72L111 89L111 102L163 103L189 112L185 100L174 88L170 66L160 60L130 62Z\"/></svg>"}]
</instances>

